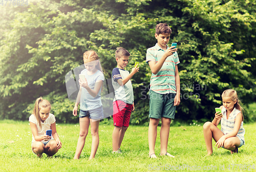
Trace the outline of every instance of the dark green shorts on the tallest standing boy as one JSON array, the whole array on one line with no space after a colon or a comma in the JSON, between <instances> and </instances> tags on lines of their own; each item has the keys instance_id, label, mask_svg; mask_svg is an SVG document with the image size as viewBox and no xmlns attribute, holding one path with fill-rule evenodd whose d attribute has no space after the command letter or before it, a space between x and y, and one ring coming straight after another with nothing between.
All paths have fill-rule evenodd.
<instances>
[{"instance_id":1,"label":"dark green shorts on the tallest standing boy","mask_svg":"<svg viewBox=\"0 0 256 172\"><path fill-rule=\"evenodd\" d=\"M150 90L150 118L160 119L161 117L174 119L176 106L174 98L176 93L159 94Z\"/></svg>"}]
</instances>

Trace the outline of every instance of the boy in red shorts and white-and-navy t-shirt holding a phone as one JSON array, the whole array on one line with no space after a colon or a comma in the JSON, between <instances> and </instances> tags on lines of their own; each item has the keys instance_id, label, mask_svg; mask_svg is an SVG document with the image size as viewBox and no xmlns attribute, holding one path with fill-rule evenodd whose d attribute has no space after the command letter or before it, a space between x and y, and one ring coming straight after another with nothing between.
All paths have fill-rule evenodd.
<instances>
[{"instance_id":1,"label":"boy in red shorts and white-and-navy t-shirt holding a phone","mask_svg":"<svg viewBox=\"0 0 256 172\"><path fill-rule=\"evenodd\" d=\"M134 67L130 73L124 70L131 54L122 47L116 51L117 67L112 70L112 85L115 89L113 100L114 130L112 135L113 153L120 153L123 136L129 127L131 112L134 111L133 86L131 78L139 71Z\"/></svg>"}]
</instances>

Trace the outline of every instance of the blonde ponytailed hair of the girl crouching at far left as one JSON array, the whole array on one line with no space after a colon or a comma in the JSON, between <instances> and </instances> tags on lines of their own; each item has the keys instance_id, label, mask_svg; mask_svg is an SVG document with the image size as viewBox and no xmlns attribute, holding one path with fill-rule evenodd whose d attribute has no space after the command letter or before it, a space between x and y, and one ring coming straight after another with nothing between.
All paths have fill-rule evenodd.
<instances>
[{"instance_id":1,"label":"blonde ponytailed hair of the girl crouching at far left","mask_svg":"<svg viewBox=\"0 0 256 172\"><path fill-rule=\"evenodd\" d=\"M35 118L39 124L40 129L41 129L41 118L40 118L39 111L41 108L47 108L47 107L50 107L51 109L51 104L48 100L42 99L42 97L39 97L36 99L33 114L35 115Z\"/></svg>"}]
</instances>

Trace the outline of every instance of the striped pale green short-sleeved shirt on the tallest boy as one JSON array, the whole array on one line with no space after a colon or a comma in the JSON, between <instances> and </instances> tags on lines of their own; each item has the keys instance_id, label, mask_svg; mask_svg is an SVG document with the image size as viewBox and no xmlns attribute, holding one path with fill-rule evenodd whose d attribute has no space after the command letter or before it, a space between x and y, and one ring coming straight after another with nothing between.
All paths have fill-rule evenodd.
<instances>
[{"instance_id":1,"label":"striped pale green short-sleeved shirt on the tallest boy","mask_svg":"<svg viewBox=\"0 0 256 172\"><path fill-rule=\"evenodd\" d=\"M167 45L168 48L169 46ZM164 53L165 51L156 43L155 46L147 49L146 63L148 64L148 61L155 61L157 63ZM150 89L159 94L176 93L175 65L179 63L180 60L177 52L167 57L158 73L156 75L152 73Z\"/></svg>"}]
</instances>

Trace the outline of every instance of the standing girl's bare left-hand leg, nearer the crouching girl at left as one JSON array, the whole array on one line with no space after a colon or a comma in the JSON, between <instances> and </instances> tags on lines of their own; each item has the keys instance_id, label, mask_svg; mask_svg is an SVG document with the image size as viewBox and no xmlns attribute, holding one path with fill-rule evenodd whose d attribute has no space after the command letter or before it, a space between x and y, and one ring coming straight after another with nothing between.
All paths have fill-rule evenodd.
<instances>
[{"instance_id":1,"label":"standing girl's bare left-hand leg, nearer the crouching girl at left","mask_svg":"<svg viewBox=\"0 0 256 172\"><path fill-rule=\"evenodd\" d=\"M84 143L86 142L86 136L88 134L89 125L90 125L90 120L88 116L79 118L80 132L79 132L79 138L77 141L76 154L74 156L74 159L80 158Z\"/></svg>"}]
</instances>

